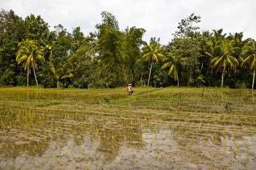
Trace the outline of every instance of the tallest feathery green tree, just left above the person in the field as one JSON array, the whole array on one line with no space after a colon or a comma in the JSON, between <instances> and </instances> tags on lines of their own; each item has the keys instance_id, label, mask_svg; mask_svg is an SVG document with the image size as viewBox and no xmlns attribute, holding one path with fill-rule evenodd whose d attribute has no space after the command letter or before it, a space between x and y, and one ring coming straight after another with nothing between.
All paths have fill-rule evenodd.
<instances>
[{"instance_id":1,"label":"tallest feathery green tree, just left above the person in the field","mask_svg":"<svg viewBox=\"0 0 256 170\"><path fill-rule=\"evenodd\" d=\"M124 85L123 79L123 33L119 31L117 19L106 11L101 13L102 24L97 24L98 44L96 50L100 60L100 75L106 87Z\"/></svg>"}]
</instances>

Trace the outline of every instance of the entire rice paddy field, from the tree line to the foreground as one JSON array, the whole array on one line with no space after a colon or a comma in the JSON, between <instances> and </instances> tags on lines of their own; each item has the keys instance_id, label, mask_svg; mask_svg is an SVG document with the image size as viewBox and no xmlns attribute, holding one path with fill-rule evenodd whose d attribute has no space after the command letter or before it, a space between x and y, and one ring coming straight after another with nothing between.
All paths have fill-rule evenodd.
<instances>
[{"instance_id":1,"label":"entire rice paddy field, from the tree line to the foreground","mask_svg":"<svg viewBox=\"0 0 256 170\"><path fill-rule=\"evenodd\" d=\"M256 91L0 88L0 169L255 169Z\"/></svg>"}]
</instances>

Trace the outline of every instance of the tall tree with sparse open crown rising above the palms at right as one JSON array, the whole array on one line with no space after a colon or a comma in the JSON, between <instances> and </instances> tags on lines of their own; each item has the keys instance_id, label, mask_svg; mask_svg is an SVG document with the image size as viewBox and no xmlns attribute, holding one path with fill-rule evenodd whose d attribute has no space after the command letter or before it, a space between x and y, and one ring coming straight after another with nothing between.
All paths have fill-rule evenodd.
<instances>
[{"instance_id":1,"label":"tall tree with sparse open crown rising above the palms at right","mask_svg":"<svg viewBox=\"0 0 256 170\"><path fill-rule=\"evenodd\" d=\"M195 26L195 24L201 22L200 19L201 16L195 15L195 13L181 19L177 27L179 30L172 34L174 39L168 44L181 56L181 77L184 83L187 82L187 86L193 83L193 77L199 72L201 48L197 39L200 33L197 32L199 26Z\"/></svg>"}]
</instances>

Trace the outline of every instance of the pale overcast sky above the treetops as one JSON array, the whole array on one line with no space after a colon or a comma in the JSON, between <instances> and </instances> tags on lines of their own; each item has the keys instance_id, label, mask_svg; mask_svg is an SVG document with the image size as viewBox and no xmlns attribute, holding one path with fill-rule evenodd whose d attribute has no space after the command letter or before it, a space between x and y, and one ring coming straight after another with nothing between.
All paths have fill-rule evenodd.
<instances>
[{"instance_id":1,"label":"pale overcast sky above the treetops","mask_svg":"<svg viewBox=\"0 0 256 170\"><path fill-rule=\"evenodd\" d=\"M143 40L160 38L168 44L181 19L195 13L201 16L200 30L224 29L243 32L256 39L255 0L0 0L0 9L12 9L23 19L40 15L51 26L61 24L68 32L79 26L85 36L96 30L102 11L115 15L119 28L144 28Z\"/></svg>"}]
</instances>

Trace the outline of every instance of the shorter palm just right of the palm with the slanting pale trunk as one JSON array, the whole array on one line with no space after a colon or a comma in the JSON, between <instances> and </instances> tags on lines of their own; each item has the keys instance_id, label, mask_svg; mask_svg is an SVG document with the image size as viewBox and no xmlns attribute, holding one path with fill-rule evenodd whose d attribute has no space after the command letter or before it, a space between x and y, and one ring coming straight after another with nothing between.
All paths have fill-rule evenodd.
<instances>
[{"instance_id":1,"label":"shorter palm just right of the palm with the slanting pale trunk","mask_svg":"<svg viewBox=\"0 0 256 170\"><path fill-rule=\"evenodd\" d=\"M180 58L179 56L175 55L172 52L167 52L166 53L167 58L164 58L163 62L164 65L162 65L161 69L169 69L168 70L168 75L174 79L174 81L178 82L178 87L179 87L179 76L178 76L178 69L177 65L180 63Z\"/></svg>"}]
</instances>

